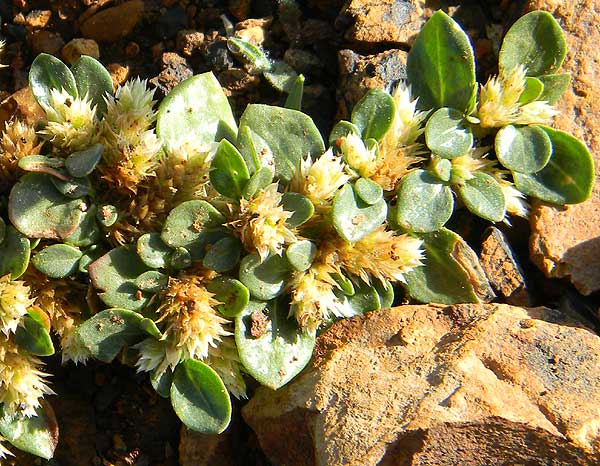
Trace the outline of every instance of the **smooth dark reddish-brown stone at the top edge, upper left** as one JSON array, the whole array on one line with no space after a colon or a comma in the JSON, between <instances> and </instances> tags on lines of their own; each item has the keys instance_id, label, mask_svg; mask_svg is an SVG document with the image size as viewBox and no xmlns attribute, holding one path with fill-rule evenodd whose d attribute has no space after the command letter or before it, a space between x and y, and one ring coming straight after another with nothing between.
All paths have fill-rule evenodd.
<instances>
[{"instance_id":1,"label":"smooth dark reddish-brown stone at the top edge, upper left","mask_svg":"<svg viewBox=\"0 0 600 466\"><path fill-rule=\"evenodd\" d=\"M116 42L131 34L143 13L143 0L130 0L86 19L81 24L81 33L97 42Z\"/></svg>"}]
</instances>

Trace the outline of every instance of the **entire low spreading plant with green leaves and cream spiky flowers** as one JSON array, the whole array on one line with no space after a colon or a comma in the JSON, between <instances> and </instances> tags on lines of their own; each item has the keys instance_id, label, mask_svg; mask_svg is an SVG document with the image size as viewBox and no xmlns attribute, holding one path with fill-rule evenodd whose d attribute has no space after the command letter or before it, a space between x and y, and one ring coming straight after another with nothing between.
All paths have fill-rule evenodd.
<instances>
[{"instance_id":1,"label":"entire low spreading plant with green leaves and cream spiky flowers","mask_svg":"<svg viewBox=\"0 0 600 466\"><path fill-rule=\"evenodd\" d=\"M155 110L145 82L113 93L90 57L34 61L47 123L11 121L0 140L0 433L14 447L50 458L57 443L42 399L51 334L64 362L119 358L190 429L222 432L246 376L281 387L336 319L398 293L491 300L476 254L444 227L454 209L501 222L527 216L527 197L590 195L589 152L546 126L569 84L547 13L514 24L483 85L467 35L435 13L408 83L369 91L328 144L300 111L303 78L230 45L289 93L285 107L236 121L206 73Z\"/></svg>"}]
</instances>

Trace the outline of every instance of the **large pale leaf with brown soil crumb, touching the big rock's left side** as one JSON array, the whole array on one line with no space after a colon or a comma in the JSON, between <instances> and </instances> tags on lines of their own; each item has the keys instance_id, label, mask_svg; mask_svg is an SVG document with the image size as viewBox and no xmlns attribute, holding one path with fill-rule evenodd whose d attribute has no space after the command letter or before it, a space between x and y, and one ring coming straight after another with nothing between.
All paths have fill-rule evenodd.
<instances>
[{"instance_id":1,"label":"large pale leaf with brown soil crumb, touching the big rock's left side","mask_svg":"<svg viewBox=\"0 0 600 466\"><path fill-rule=\"evenodd\" d=\"M252 336L253 313L267 319L265 332ZM240 361L248 373L276 390L292 380L308 364L315 346L315 337L302 332L288 318L289 307L277 301L250 302L244 313L235 319L235 342ZM260 314L255 314L260 317Z\"/></svg>"}]
</instances>

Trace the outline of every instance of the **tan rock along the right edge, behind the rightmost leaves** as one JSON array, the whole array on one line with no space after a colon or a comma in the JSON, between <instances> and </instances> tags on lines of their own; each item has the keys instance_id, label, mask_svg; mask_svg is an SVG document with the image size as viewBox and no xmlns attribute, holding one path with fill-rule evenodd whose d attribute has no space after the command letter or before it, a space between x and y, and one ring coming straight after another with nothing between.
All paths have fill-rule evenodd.
<instances>
[{"instance_id":1,"label":"tan rock along the right edge, behind the rightmost leaves","mask_svg":"<svg viewBox=\"0 0 600 466\"><path fill-rule=\"evenodd\" d=\"M549 11L565 31L572 86L557 103L554 126L583 140L596 165L590 199L555 207L534 203L531 259L549 277L569 277L583 294L600 290L600 0L530 0L528 9Z\"/></svg>"}]
</instances>

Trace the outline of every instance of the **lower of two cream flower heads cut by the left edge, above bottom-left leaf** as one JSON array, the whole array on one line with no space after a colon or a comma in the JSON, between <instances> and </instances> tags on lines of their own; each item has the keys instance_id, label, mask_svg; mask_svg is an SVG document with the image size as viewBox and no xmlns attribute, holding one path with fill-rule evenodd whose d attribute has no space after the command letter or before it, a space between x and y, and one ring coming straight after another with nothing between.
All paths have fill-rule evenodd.
<instances>
[{"instance_id":1,"label":"lower of two cream flower heads cut by the left edge, above bottom-left leaf","mask_svg":"<svg viewBox=\"0 0 600 466\"><path fill-rule=\"evenodd\" d=\"M9 413L34 416L40 399L54 394L46 385L48 374L39 370L40 365L39 359L19 350L10 340L0 341L0 403Z\"/></svg>"}]
</instances>

